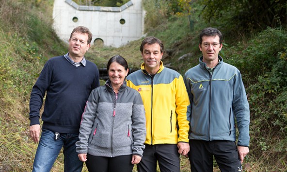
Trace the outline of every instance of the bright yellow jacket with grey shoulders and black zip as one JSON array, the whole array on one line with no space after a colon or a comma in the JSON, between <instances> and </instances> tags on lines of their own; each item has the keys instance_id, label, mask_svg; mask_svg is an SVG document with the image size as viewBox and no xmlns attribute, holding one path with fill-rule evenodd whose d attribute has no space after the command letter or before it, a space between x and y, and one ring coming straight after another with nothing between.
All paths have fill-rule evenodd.
<instances>
[{"instance_id":1,"label":"bright yellow jacket with grey shoulders and black zip","mask_svg":"<svg viewBox=\"0 0 287 172\"><path fill-rule=\"evenodd\" d=\"M144 69L127 77L127 86L142 96L146 117L146 144L177 144L189 142L190 101L183 77L175 70L163 67L151 76Z\"/></svg>"}]
</instances>

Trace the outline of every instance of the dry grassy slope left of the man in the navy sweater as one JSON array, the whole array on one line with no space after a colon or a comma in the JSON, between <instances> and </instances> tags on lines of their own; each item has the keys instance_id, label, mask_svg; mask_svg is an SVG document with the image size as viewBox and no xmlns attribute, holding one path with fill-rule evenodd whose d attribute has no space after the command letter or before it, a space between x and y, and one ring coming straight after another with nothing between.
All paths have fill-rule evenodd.
<instances>
[{"instance_id":1,"label":"dry grassy slope left of the man in the navy sweater","mask_svg":"<svg viewBox=\"0 0 287 172\"><path fill-rule=\"evenodd\" d=\"M48 58L66 51L51 29L51 14L43 15L51 2L37 7L33 0L0 0L1 172L32 170L37 144L28 131L30 92ZM56 163L54 171L62 167Z\"/></svg>"}]
</instances>

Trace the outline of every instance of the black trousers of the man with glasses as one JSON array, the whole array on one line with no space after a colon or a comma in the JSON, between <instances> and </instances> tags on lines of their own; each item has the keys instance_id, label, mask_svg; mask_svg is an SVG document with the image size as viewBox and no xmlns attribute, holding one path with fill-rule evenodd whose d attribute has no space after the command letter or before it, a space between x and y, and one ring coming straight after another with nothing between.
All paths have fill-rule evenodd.
<instances>
[{"instance_id":1,"label":"black trousers of the man with glasses","mask_svg":"<svg viewBox=\"0 0 287 172\"><path fill-rule=\"evenodd\" d=\"M227 140L190 140L191 172L213 172L213 156L221 172L241 172L236 143Z\"/></svg>"}]
</instances>

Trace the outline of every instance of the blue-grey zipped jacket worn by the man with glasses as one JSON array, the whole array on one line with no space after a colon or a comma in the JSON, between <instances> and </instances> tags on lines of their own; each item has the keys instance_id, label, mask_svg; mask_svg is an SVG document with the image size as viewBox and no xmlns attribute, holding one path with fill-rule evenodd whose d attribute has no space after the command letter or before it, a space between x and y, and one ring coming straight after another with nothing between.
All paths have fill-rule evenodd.
<instances>
[{"instance_id":1,"label":"blue-grey zipped jacket worn by the man with glasses","mask_svg":"<svg viewBox=\"0 0 287 172\"><path fill-rule=\"evenodd\" d=\"M190 139L236 141L236 124L239 130L238 145L249 146L250 111L239 69L220 62L211 74L206 63L189 69L184 76L190 97ZM236 120L235 120L236 119Z\"/></svg>"}]
</instances>

